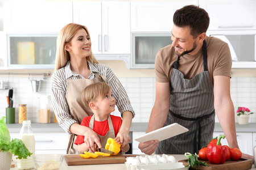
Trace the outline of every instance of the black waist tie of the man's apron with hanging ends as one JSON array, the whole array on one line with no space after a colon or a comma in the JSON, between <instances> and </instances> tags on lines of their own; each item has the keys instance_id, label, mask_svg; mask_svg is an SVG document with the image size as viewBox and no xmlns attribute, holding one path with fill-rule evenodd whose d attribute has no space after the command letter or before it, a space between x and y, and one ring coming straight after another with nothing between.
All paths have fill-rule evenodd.
<instances>
[{"instance_id":1,"label":"black waist tie of the man's apron with hanging ends","mask_svg":"<svg viewBox=\"0 0 256 170\"><path fill-rule=\"evenodd\" d=\"M196 148L196 137L197 137L197 130L196 130L196 133L195 133L195 137L194 137L194 141L193 141L193 146L194 146L194 153L197 153L197 150L199 150L199 148L201 148L201 124L200 122L205 119L205 118L209 118L210 116L212 116L212 114L215 113L215 110L212 111L212 113L210 114L207 114L207 115L204 115L204 116L201 116L201 117L197 117L197 118L187 118L187 117L183 117L183 116L180 116L179 114L176 114L174 112L172 112L170 109L169 109L169 112L174 115L175 117L181 119L181 120L185 120L185 121L196 121L196 129L198 129L198 132L199 132L199 135L198 135L198 143L197 143L197 148Z\"/></svg>"}]
</instances>

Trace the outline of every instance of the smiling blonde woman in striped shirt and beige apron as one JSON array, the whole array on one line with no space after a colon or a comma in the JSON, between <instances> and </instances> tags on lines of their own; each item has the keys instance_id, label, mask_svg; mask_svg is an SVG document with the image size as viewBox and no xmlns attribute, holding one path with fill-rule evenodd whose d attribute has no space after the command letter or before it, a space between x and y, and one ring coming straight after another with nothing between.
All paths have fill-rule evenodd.
<instances>
[{"instance_id":1,"label":"smiling blonde woman in striped shirt and beige apron","mask_svg":"<svg viewBox=\"0 0 256 170\"><path fill-rule=\"evenodd\" d=\"M107 82L113 90L113 97L122 116L122 126L115 140L122 147L129 145L131 120L135 116L125 89L112 70L98 63L91 49L92 42L88 29L70 23L61 29L57 37L55 73L51 78L51 98L53 110L61 128L71 134L67 154L77 154L73 145L77 135L84 135L89 150L94 152L94 143L101 146L97 134L90 128L81 126L81 120L93 113L84 107L81 92L86 86L96 82ZM120 138L118 140L118 138Z\"/></svg>"}]
</instances>

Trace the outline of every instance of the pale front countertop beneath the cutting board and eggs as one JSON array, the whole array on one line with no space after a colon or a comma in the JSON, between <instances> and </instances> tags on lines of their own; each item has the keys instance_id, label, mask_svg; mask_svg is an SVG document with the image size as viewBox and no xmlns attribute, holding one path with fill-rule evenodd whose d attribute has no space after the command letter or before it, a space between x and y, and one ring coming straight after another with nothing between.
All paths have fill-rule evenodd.
<instances>
[{"instance_id":1,"label":"pale front countertop beneath the cutting board and eggs","mask_svg":"<svg viewBox=\"0 0 256 170\"><path fill-rule=\"evenodd\" d=\"M142 155L143 156L143 155ZM172 155L175 157L176 161L186 159L184 155ZM14 158L14 164L15 167L11 168L10 170L18 170L17 168L17 162L16 159ZM61 170L84 170L84 169L93 169L93 170L125 170L126 165L123 164L98 164L98 165L75 165L75 166L68 166L65 160L63 160L63 163L61 164L60 167ZM252 165L251 169L256 169L254 165Z\"/></svg>"}]
</instances>

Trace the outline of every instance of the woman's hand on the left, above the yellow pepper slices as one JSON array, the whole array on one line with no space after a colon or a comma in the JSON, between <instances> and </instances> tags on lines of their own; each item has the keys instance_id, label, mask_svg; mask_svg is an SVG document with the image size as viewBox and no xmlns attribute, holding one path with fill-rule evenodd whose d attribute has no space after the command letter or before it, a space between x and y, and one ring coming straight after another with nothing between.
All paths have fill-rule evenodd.
<instances>
[{"instance_id":1,"label":"woman's hand on the left, above the yellow pepper slices","mask_svg":"<svg viewBox=\"0 0 256 170\"><path fill-rule=\"evenodd\" d=\"M97 151L95 145L97 145L98 148L101 148L100 138L98 138L98 135L95 133L95 131L90 128L88 128L88 130L84 134L84 143L85 145L87 145L89 151L91 152Z\"/></svg>"}]
</instances>

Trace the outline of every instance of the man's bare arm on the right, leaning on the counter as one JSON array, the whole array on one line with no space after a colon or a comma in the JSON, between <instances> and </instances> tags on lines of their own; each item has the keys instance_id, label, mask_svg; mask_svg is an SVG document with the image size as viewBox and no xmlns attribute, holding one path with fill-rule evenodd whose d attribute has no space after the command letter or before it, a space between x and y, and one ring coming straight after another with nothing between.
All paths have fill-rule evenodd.
<instances>
[{"instance_id":1,"label":"man's bare arm on the right, leaning on the counter","mask_svg":"<svg viewBox=\"0 0 256 170\"><path fill-rule=\"evenodd\" d=\"M234 105L230 97L230 78L228 76L214 76L214 109L220 121L221 128L229 143L229 147L239 148L236 135ZM242 154L242 158L253 159L253 156Z\"/></svg>"}]
</instances>

